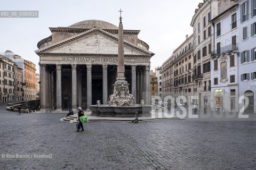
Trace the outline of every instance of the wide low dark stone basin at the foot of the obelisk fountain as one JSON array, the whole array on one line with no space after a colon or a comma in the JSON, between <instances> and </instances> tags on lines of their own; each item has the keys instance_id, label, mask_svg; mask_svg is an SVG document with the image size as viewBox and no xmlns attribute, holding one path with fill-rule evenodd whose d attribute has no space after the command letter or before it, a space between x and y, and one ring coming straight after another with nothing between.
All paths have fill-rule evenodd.
<instances>
[{"instance_id":1,"label":"wide low dark stone basin at the foot of the obelisk fountain","mask_svg":"<svg viewBox=\"0 0 256 170\"><path fill-rule=\"evenodd\" d=\"M89 109L92 116L101 117L134 117L138 112L139 116L150 116L151 105L134 106L109 106L109 105L91 105Z\"/></svg>"}]
</instances>

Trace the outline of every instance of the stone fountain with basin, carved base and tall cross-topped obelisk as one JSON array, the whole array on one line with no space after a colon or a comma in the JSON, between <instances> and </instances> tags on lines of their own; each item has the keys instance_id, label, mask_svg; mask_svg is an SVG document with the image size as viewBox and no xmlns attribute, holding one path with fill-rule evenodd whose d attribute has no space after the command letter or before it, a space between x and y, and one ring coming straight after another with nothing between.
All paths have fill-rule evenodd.
<instances>
[{"instance_id":1,"label":"stone fountain with basin, carved base and tall cross-topped obelisk","mask_svg":"<svg viewBox=\"0 0 256 170\"><path fill-rule=\"evenodd\" d=\"M113 90L113 94L109 96L108 104L101 105L97 101L97 105L89 106L91 115L94 116L114 116L114 117L134 117L135 113L140 116L149 116L151 105L145 105L144 101L141 104L134 104L134 97L129 92L129 84L124 77L124 36L123 36L123 23L120 12L120 22L118 27L118 65L117 65L117 78Z\"/></svg>"}]
</instances>

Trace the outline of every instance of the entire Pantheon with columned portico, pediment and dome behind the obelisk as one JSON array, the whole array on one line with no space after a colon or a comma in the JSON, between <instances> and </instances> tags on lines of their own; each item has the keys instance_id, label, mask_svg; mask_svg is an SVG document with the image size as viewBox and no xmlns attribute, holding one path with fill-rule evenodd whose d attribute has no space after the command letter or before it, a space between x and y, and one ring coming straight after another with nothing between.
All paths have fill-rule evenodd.
<instances>
[{"instance_id":1,"label":"entire Pantheon with columned portico, pediment and dome behind the obelisk","mask_svg":"<svg viewBox=\"0 0 256 170\"><path fill-rule=\"evenodd\" d=\"M108 103L117 76L118 27L85 20L52 32L37 44L40 57L41 111L89 108ZM125 78L135 102L149 104L150 58L154 53L138 39L139 30L124 30ZM147 82L148 81L148 82Z\"/></svg>"}]
</instances>

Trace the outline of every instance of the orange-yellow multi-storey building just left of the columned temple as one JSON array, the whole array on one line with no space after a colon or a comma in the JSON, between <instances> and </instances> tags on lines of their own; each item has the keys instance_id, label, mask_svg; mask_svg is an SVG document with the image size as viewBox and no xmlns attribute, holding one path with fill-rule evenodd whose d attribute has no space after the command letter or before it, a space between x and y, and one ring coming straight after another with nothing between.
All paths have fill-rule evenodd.
<instances>
[{"instance_id":1,"label":"orange-yellow multi-storey building just left of the columned temple","mask_svg":"<svg viewBox=\"0 0 256 170\"><path fill-rule=\"evenodd\" d=\"M24 100L36 99L36 65L24 60Z\"/></svg>"}]
</instances>

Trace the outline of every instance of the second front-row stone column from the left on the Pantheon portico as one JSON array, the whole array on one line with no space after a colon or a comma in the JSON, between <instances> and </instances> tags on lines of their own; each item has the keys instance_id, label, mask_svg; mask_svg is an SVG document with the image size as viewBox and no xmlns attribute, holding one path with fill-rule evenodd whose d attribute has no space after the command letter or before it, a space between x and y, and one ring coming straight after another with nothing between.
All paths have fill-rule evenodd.
<instances>
[{"instance_id":1,"label":"second front-row stone column from the left on the Pantheon portico","mask_svg":"<svg viewBox=\"0 0 256 170\"><path fill-rule=\"evenodd\" d=\"M56 111L62 111L61 101L61 64L56 65Z\"/></svg>"}]
</instances>

